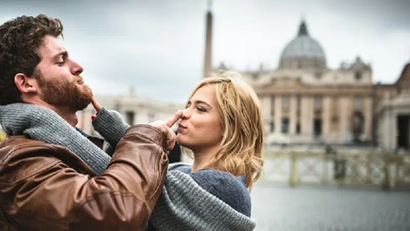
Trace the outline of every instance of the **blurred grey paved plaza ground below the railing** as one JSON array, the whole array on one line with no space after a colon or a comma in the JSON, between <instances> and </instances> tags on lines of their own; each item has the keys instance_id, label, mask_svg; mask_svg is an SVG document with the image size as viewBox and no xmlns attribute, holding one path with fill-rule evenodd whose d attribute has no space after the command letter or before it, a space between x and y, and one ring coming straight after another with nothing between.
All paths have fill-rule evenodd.
<instances>
[{"instance_id":1,"label":"blurred grey paved plaza ground below the railing","mask_svg":"<svg viewBox=\"0 0 410 231\"><path fill-rule=\"evenodd\" d=\"M252 191L255 230L410 230L410 192L261 181Z\"/></svg>"}]
</instances>

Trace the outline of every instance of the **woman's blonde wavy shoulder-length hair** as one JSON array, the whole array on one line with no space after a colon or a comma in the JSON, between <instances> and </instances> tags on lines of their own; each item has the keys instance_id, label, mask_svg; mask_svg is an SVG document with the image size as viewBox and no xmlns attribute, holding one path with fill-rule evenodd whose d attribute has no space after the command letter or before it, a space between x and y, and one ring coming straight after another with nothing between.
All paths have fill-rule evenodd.
<instances>
[{"instance_id":1,"label":"woman's blonde wavy shoulder-length hair","mask_svg":"<svg viewBox=\"0 0 410 231\"><path fill-rule=\"evenodd\" d=\"M194 88L189 99L206 85L214 87L223 131L219 151L208 165L234 176L245 176L245 185L251 190L263 168L264 124L260 101L253 88L233 71L212 73ZM189 149L182 151L193 158Z\"/></svg>"}]
</instances>

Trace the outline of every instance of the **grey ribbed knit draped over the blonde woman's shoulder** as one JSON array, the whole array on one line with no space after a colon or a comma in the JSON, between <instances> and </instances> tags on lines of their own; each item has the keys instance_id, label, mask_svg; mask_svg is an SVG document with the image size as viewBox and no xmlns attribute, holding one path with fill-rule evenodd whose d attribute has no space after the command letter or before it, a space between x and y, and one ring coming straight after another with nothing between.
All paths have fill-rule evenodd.
<instances>
[{"instance_id":1,"label":"grey ribbed knit draped over the blonde woman's shoulder","mask_svg":"<svg viewBox=\"0 0 410 231\"><path fill-rule=\"evenodd\" d=\"M173 165L170 165L172 168ZM156 230L253 230L249 218L198 185L188 174L168 171L149 222Z\"/></svg>"}]
</instances>

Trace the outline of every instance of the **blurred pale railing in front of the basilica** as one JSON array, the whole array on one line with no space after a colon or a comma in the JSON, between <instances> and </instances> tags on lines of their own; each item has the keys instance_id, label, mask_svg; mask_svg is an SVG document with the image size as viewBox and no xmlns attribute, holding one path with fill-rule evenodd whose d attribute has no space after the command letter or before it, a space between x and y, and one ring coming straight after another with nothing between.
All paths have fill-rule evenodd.
<instances>
[{"instance_id":1,"label":"blurred pale railing in front of the basilica","mask_svg":"<svg viewBox=\"0 0 410 231\"><path fill-rule=\"evenodd\" d=\"M410 153L266 151L264 180L298 184L410 186Z\"/></svg>"}]
</instances>

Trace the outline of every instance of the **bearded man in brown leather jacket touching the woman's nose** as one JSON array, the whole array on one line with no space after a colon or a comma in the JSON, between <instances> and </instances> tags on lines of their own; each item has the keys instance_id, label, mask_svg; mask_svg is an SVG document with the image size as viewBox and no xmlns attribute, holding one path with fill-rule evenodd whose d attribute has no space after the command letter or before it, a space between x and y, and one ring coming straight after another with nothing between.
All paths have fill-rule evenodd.
<instances>
[{"instance_id":1,"label":"bearded man in brown leather jacket touching the woman's nose","mask_svg":"<svg viewBox=\"0 0 410 231\"><path fill-rule=\"evenodd\" d=\"M0 106L43 106L76 126L75 112L93 95L58 41L62 31L58 19L41 14L0 26ZM179 117L132 126L100 175L67 147L9 136L0 144L0 230L144 230Z\"/></svg>"}]
</instances>

